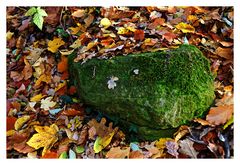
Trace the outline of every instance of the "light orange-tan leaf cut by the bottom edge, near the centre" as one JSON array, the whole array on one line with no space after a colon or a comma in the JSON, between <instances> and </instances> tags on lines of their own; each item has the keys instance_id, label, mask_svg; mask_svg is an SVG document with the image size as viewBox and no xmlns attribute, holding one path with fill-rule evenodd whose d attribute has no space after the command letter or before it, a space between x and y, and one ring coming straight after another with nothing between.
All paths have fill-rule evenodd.
<instances>
[{"instance_id":1,"label":"light orange-tan leaf cut by the bottom edge, near the centre","mask_svg":"<svg viewBox=\"0 0 240 165\"><path fill-rule=\"evenodd\" d=\"M120 147L113 147L111 148L107 154L106 158L114 158L114 159L124 159L128 158L130 153L130 148L120 148Z\"/></svg>"}]
</instances>

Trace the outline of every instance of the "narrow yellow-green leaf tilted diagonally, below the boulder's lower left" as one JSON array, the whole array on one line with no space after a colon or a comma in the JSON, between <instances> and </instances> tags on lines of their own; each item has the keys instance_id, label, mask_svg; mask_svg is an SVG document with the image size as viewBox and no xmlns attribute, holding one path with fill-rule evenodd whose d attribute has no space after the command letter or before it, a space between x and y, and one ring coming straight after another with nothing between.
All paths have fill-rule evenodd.
<instances>
[{"instance_id":1,"label":"narrow yellow-green leaf tilted diagonally, below the boulder's lower left","mask_svg":"<svg viewBox=\"0 0 240 165\"><path fill-rule=\"evenodd\" d=\"M100 136L97 137L94 143L94 152L99 153L102 151L107 145L111 142L114 132L110 133L109 135L101 138Z\"/></svg>"}]
</instances>

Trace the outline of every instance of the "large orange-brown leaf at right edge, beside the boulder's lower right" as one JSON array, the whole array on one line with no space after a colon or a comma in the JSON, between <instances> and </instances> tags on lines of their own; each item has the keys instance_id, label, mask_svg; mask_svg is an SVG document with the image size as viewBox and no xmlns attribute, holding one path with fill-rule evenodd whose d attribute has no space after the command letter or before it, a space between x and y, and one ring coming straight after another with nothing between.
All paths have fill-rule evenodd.
<instances>
[{"instance_id":1,"label":"large orange-brown leaf at right edge, beside the boulder's lower right","mask_svg":"<svg viewBox=\"0 0 240 165\"><path fill-rule=\"evenodd\" d=\"M226 123L233 115L233 105L212 107L208 112L206 120L214 125Z\"/></svg>"}]
</instances>

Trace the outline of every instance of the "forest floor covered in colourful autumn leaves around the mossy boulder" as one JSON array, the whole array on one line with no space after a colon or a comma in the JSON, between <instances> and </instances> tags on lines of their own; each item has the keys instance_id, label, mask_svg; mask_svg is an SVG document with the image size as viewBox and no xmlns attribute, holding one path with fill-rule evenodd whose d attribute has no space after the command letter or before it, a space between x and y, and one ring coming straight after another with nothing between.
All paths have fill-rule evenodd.
<instances>
[{"instance_id":1,"label":"forest floor covered in colourful autumn leaves around the mossy boulder","mask_svg":"<svg viewBox=\"0 0 240 165\"><path fill-rule=\"evenodd\" d=\"M232 7L7 7L7 158L233 158ZM81 104L68 55L197 46L210 60L215 101L171 138L129 142ZM113 128L113 127L114 128ZM107 131L106 131L107 130Z\"/></svg>"}]
</instances>

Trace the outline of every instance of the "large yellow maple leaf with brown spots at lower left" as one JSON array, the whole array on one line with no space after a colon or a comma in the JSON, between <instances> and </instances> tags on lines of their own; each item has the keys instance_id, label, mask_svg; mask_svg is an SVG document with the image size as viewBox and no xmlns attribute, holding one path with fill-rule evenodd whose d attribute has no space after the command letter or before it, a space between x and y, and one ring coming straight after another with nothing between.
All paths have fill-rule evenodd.
<instances>
[{"instance_id":1,"label":"large yellow maple leaf with brown spots at lower left","mask_svg":"<svg viewBox=\"0 0 240 165\"><path fill-rule=\"evenodd\" d=\"M57 132L58 126L52 124L49 126L35 126L35 130L38 132L34 134L31 139L27 142L27 144L36 150L44 147L42 151L42 155L44 155L47 151L49 151L53 144L57 142Z\"/></svg>"}]
</instances>

